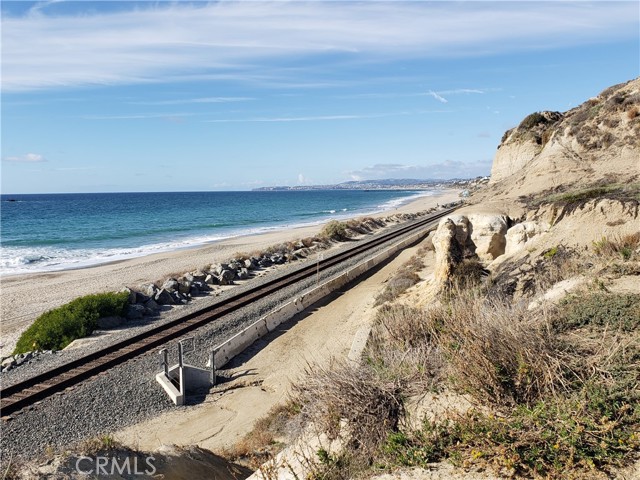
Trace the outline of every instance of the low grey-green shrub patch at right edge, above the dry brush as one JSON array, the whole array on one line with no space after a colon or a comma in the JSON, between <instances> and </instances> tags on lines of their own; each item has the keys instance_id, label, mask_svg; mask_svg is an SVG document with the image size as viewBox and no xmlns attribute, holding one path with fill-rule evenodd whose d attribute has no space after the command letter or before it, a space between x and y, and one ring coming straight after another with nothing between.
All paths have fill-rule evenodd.
<instances>
[{"instance_id":1,"label":"low grey-green shrub patch at right edge, above the dry brush","mask_svg":"<svg viewBox=\"0 0 640 480\"><path fill-rule=\"evenodd\" d=\"M594 293L571 296L561 302L556 328L567 330L587 325L610 326L632 331L640 327L640 295Z\"/></svg>"}]
</instances>

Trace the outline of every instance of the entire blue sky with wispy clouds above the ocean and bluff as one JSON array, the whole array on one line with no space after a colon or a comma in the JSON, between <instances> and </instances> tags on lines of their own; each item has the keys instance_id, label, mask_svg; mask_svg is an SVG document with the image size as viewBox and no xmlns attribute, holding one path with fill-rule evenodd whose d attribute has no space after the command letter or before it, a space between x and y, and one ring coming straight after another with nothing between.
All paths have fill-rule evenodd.
<instances>
[{"instance_id":1,"label":"entire blue sky with wispy clouds above the ocean and bluff","mask_svg":"<svg viewBox=\"0 0 640 480\"><path fill-rule=\"evenodd\" d=\"M6 1L3 193L488 175L640 75L632 1Z\"/></svg>"}]
</instances>

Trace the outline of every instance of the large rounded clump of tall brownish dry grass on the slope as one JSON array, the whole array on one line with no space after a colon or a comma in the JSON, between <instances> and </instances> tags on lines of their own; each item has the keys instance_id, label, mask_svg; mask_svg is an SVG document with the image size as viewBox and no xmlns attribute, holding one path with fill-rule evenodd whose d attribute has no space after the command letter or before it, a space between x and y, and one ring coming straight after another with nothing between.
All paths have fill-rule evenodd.
<instances>
[{"instance_id":1,"label":"large rounded clump of tall brownish dry grass on the slope","mask_svg":"<svg viewBox=\"0 0 640 480\"><path fill-rule=\"evenodd\" d=\"M444 326L438 344L453 385L478 401L531 404L568 389L571 358L544 312L466 291L431 315Z\"/></svg>"}]
</instances>

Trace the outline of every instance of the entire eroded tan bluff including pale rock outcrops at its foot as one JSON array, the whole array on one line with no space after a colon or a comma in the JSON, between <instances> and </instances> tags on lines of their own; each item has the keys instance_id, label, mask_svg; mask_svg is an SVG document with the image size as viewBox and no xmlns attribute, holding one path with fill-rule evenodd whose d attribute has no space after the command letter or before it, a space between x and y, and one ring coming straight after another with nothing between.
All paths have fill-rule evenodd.
<instances>
[{"instance_id":1,"label":"entire eroded tan bluff including pale rock outcrops at its foot","mask_svg":"<svg viewBox=\"0 0 640 480\"><path fill-rule=\"evenodd\" d=\"M587 251L632 236L638 182L640 78L565 113L528 115L504 134L488 187L440 222L435 278L446 284L462 258L499 272L560 245Z\"/></svg>"}]
</instances>

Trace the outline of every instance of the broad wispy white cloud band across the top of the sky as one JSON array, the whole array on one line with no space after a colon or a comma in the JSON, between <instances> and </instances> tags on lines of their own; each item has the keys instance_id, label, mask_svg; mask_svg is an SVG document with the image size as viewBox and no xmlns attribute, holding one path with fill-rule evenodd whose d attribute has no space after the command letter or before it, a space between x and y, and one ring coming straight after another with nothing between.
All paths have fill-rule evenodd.
<instances>
[{"instance_id":1,"label":"broad wispy white cloud band across the top of the sky","mask_svg":"<svg viewBox=\"0 0 640 480\"><path fill-rule=\"evenodd\" d=\"M475 56L636 38L638 29L637 2L132 2L108 13L86 5L75 15L3 12L5 91L194 78L304 86L312 78L281 60Z\"/></svg>"}]
</instances>

